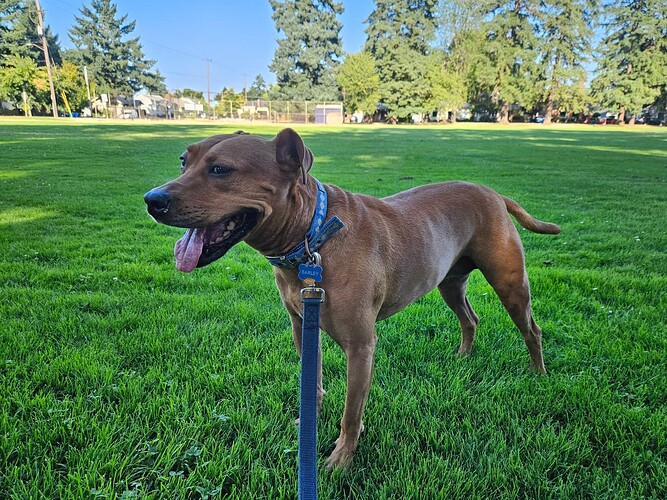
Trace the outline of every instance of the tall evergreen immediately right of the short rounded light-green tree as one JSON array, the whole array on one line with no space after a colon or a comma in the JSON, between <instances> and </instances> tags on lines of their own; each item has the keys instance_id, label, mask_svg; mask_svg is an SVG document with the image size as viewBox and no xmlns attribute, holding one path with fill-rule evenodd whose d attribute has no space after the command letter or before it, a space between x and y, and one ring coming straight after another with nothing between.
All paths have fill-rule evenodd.
<instances>
[{"instance_id":1,"label":"tall evergreen immediately right of the short rounded light-green tree","mask_svg":"<svg viewBox=\"0 0 667 500\"><path fill-rule=\"evenodd\" d=\"M375 59L382 103L394 118L426 111L436 7L437 0L376 0L366 20L365 50Z\"/></svg>"}]
</instances>

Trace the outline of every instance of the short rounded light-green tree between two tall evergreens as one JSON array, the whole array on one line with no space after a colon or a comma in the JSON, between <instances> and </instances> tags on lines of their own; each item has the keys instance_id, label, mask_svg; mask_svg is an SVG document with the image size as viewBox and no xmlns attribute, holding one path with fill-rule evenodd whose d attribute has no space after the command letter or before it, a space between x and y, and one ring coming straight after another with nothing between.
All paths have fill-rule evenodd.
<instances>
[{"instance_id":1,"label":"short rounded light-green tree between two tall evergreens","mask_svg":"<svg viewBox=\"0 0 667 500\"><path fill-rule=\"evenodd\" d=\"M370 54L349 54L338 67L336 79L343 91L343 105L348 112L375 113L380 101L380 76Z\"/></svg>"}]
</instances>

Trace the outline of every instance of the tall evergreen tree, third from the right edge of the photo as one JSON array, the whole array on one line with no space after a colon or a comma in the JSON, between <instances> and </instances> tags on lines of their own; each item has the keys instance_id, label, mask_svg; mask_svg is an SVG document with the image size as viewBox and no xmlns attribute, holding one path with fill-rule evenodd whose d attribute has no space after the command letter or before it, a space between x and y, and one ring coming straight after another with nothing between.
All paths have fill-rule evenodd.
<instances>
[{"instance_id":1,"label":"tall evergreen tree, third from the right edge of the photo","mask_svg":"<svg viewBox=\"0 0 667 500\"><path fill-rule=\"evenodd\" d=\"M531 13L538 0L492 2L482 24L485 39L475 65L478 91L486 93L509 122L512 105L531 107L538 100L538 67Z\"/></svg>"}]
</instances>

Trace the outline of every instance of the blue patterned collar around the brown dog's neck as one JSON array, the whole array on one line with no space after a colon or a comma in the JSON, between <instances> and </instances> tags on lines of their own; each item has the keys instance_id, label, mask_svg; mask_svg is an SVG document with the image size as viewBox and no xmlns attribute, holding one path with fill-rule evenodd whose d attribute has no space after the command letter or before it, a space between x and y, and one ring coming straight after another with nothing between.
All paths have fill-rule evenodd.
<instances>
[{"instance_id":1,"label":"blue patterned collar around the brown dog's neck","mask_svg":"<svg viewBox=\"0 0 667 500\"><path fill-rule=\"evenodd\" d=\"M315 182L317 183L317 203L315 205L313 221L310 223L310 229L308 229L304 241L284 255L267 257L266 259L272 266L296 269L299 267L299 264L308 261L306 240L308 241L308 250L311 253L316 252L329 238L345 226L343 221L335 215L326 223L324 222L327 218L327 191L320 181L315 179Z\"/></svg>"}]
</instances>

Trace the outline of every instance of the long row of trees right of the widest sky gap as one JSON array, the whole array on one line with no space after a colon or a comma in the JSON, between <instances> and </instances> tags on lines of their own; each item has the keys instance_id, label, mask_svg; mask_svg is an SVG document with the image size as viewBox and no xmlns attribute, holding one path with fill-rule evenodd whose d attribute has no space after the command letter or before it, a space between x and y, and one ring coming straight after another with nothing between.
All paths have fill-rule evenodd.
<instances>
[{"instance_id":1,"label":"long row of trees right of the widest sky gap","mask_svg":"<svg viewBox=\"0 0 667 500\"><path fill-rule=\"evenodd\" d=\"M270 0L275 97L333 99L390 119L468 106L513 115L665 107L664 0L376 0L362 52L343 57L342 2Z\"/></svg>"}]
</instances>

